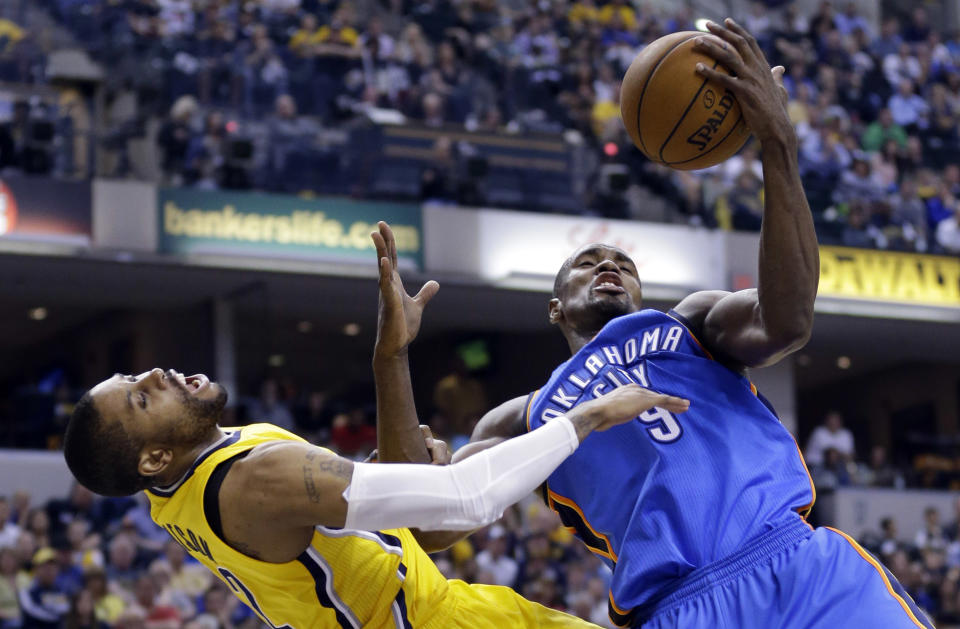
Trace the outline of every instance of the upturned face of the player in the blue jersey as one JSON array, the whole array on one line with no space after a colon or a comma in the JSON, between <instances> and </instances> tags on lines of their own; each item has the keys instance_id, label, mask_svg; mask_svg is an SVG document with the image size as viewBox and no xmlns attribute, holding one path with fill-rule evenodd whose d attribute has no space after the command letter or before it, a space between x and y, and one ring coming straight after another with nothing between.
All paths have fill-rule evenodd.
<instances>
[{"instance_id":1,"label":"upturned face of the player in the blue jersey","mask_svg":"<svg viewBox=\"0 0 960 629\"><path fill-rule=\"evenodd\" d=\"M617 247L587 245L570 259L551 318L578 329L602 327L607 321L640 309L640 279L630 256Z\"/></svg>"}]
</instances>

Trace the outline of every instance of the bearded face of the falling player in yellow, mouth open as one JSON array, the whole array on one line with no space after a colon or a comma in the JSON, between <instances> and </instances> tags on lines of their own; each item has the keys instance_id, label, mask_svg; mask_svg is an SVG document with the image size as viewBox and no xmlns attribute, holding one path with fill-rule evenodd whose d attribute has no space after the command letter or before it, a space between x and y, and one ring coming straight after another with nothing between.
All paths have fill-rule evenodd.
<instances>
[{"instance_id":1,"label":"bearded face of the falling player in yellow, mouth open","mask_svg":"<svg viewBox=\"0 0 960 629\"><path fill-rule=\"evenodd\" d=\"M108 421L120 421L144 443L190 447L203 439L227 403L227 392L207 376L172 369L138 376L114 374L90 391Z\"/></svg>"}]
</instances>

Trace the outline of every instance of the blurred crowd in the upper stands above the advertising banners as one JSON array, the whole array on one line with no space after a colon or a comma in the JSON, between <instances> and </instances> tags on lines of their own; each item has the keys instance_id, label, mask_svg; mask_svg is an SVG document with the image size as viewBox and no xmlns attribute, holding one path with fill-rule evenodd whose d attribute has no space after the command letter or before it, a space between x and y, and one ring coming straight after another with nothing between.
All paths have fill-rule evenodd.
<instances>
[{"instance_id":1,"label":"blurred crowd in the upper stands above the advertising banners","mask_svg":"<svg viewBox=\"0 0 960 629\"><path fill-rule=\"evenodd\" d=\"M355 173L344 169L349 148L331 137L358 118L409 121L451 134L423 168L422 198L465 201L464 182L437 183L451 154L443 141L453 153L464 144L451 140L462 137L458 129L545 132L594 156L583 212L760 224L758 147L706 171L673 171L645 160L620 123L620 77L647 43L694 28L688 8L657 13L628 0L42 4L109 68L109 85L135 93L141 115L163 120L154 141L168 183L302 190L324 173ZM923 6L886 15L878 28L853 3L801 14L756 2L739 17L771 65L787 67L821 240L960 253L955 34ZM40 80L30 61L36 38L11 33L0 74ZM251 125L263 137L243 133ZM450 176L482 177L464 170ZM484 201L467 188L466 201Z\"/></svg>"}]
</instances>

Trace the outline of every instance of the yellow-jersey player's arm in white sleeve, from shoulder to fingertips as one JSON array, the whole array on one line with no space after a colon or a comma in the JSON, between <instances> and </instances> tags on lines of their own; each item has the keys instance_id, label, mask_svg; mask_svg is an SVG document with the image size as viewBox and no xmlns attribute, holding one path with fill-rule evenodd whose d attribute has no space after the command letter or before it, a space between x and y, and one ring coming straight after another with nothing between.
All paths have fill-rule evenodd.
<instances>
[{"instance_id":1,"label":"yellow-jersey player's arm in white sleeve, from shoulder to fingertips","mask_svg":"<svg viewBox=\"0 0 960 629\"><path fill-rule=\"evenodd\" d=\"M267 444L234 464L224 481L224 534L234 547L276 561L278 537L294 540L280 554L296 556L318 524L477 528L532 492L591 432L631 421L654 406L682 413L689 402L637 385L621 387L447 466L353 463L306 443ZM265 539L269 547L261 547Z\"/></svg>"}]
</instances>

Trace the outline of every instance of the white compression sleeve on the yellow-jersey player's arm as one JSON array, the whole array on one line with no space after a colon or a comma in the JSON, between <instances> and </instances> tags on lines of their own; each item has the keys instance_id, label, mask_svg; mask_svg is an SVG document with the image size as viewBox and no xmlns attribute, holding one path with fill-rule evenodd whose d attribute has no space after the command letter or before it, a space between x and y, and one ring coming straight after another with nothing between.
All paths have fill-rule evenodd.
<instances>
[{"instance_id":1,"label":"white compression sleeve on the yellow-jersey player's arm","mask_svg":"<svg viewBox=\"0 0 960 629\"><path fill-rule=\"evenodd\" d=\"M467 531L497 520L580 445L566 417L453 465L355 463L345 527Z\"/></svg>"}]
</instances>

